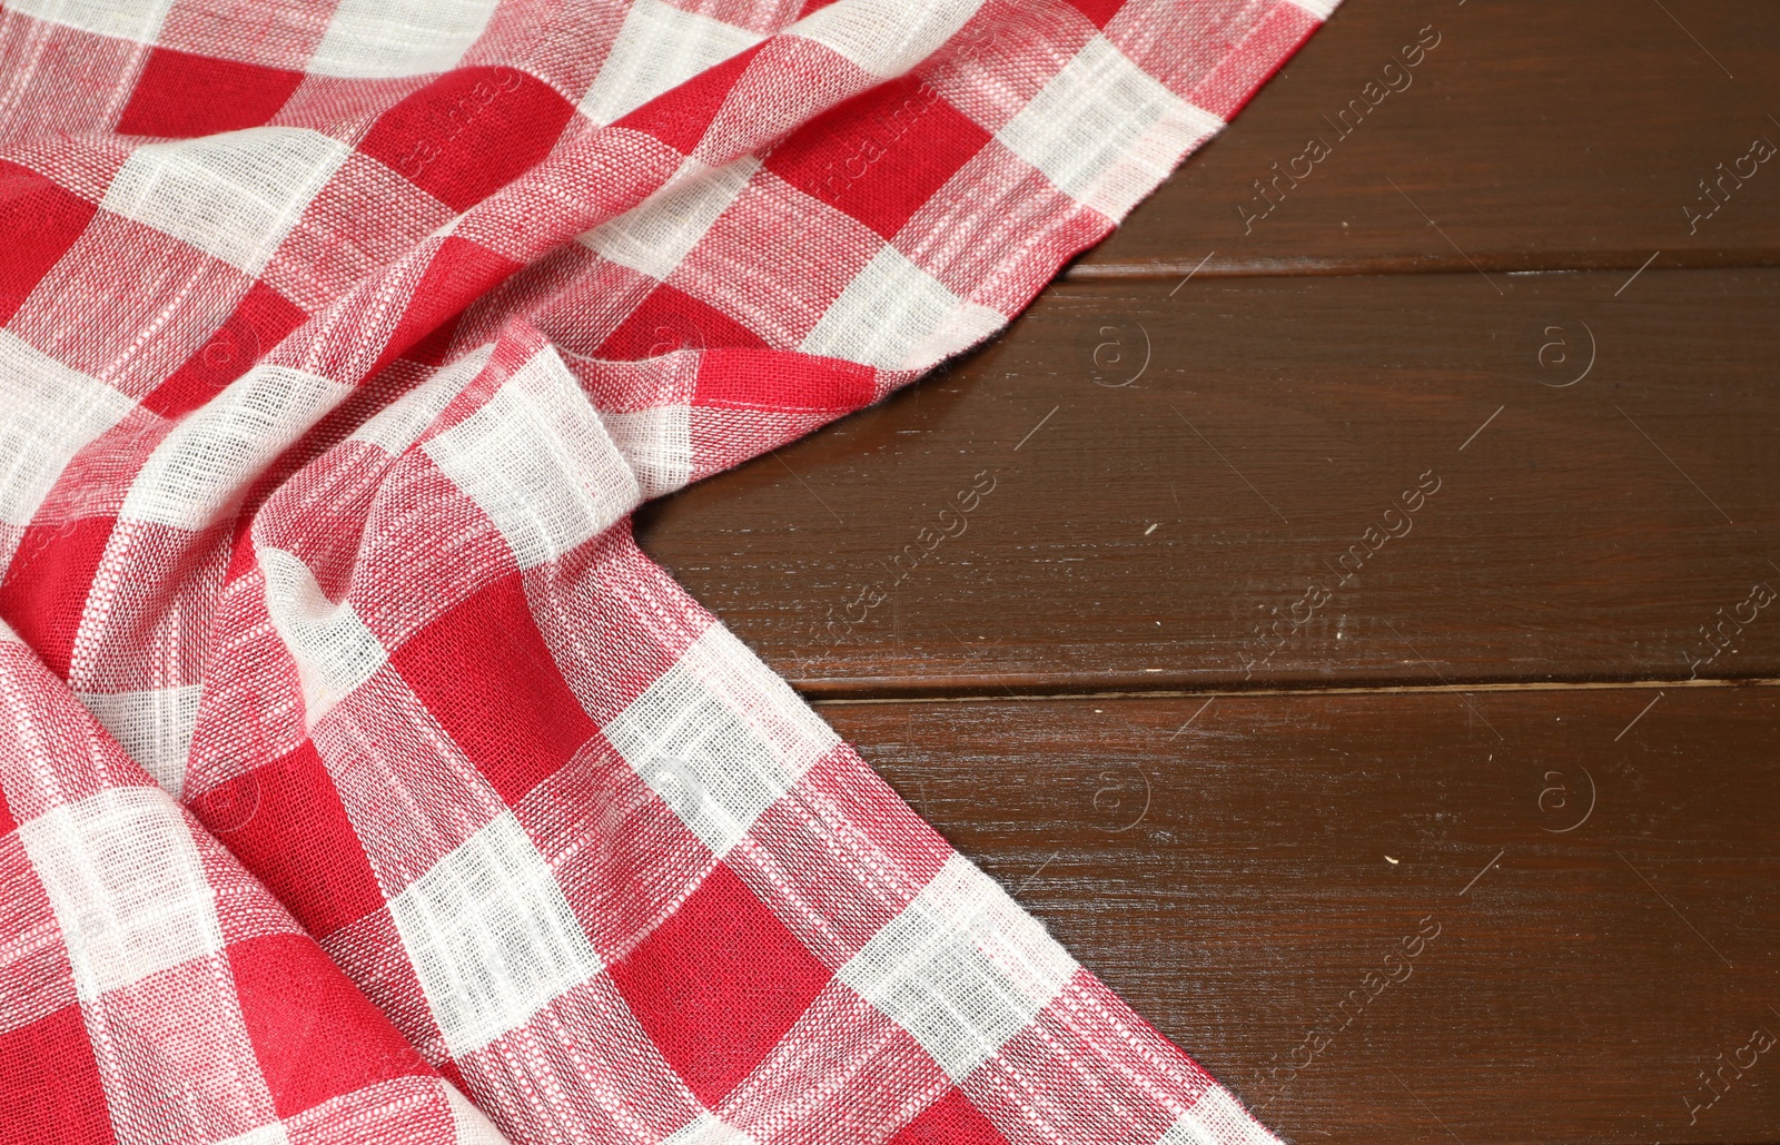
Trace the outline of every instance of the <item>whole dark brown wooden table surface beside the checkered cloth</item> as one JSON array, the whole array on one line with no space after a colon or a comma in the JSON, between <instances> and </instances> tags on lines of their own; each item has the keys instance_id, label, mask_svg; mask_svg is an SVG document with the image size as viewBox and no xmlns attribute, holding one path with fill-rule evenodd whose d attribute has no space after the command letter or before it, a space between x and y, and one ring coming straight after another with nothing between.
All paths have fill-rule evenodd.
<instances>
[{"instance_id":1,"label":"whole dark brown wooden table surface beside the checkered cloth","mask_svg":"<svg viewBox=\"0 0 1780 1145\"><path fill-rule=\"evenodd\" d=\"M1287 1138L1780 1140L1776 59L1764 0L1349 0L644 545Z\"/></svg>"}]
</instances>

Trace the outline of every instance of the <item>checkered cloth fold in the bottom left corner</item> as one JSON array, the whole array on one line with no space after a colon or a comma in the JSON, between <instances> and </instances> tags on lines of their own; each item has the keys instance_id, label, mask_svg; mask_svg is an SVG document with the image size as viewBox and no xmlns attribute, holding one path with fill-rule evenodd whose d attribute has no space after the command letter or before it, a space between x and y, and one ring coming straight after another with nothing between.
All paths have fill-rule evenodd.
<instances>
[{"instance_id":1,"label":"checkered cloth fold in the bottom left corner","mask_svg":"<svg viewBox=\"0 0 1780 1145\"><path fill-rule=\"evenodd\" d=\"M506 1138L0 625L7 1141Z\"/></svg>"}]
</instances>

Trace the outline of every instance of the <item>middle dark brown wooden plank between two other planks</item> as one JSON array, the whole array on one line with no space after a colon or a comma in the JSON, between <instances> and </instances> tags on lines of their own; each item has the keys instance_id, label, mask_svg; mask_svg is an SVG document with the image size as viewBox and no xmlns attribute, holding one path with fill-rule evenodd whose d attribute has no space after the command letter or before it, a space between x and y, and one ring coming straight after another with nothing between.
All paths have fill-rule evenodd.
<instances>
[{"instance_id":1,"label":"middle dark brown wooden plank between two other planks","mask_svg":"<svg viewBox=\"0 0 1780 1145\"><path fill-rule=\"evenodd\" d=\"M813 696L1780 677L1780 271L1627 278L1064 283L639 536Z\"/></svg>"}]
</instances>

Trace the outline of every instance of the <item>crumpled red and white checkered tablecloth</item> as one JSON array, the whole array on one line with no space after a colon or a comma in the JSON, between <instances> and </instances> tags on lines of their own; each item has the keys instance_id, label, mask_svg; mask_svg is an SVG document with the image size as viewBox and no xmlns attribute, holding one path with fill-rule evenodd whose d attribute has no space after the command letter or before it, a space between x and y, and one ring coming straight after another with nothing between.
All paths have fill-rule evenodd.
<instances>
[{"instance_id":1,"label":"crumpled red and white checkered tablecloth","mask_svg":"<svg viewBox=\"0 0 1780 1145\"><path fill-rule=\"evenodd\" d=\"M0 1143L1273 1138L632 543L1331 0L5 0Z\"/></svg>"}]
</instances>

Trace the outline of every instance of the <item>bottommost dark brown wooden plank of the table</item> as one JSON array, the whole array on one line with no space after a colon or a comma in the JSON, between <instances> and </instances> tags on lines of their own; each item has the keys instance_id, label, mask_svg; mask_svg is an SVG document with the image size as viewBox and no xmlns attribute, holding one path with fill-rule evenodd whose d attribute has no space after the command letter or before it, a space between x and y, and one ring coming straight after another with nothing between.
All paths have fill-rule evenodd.
<instances>
[{"instance_id":1,"label":"bottommost dark brown wooden plank of the table","mask_svg":"<svg viewBox=\"0 0 1780 1145\"><path fill-rule=\"evenodd\" d=\"M1202 705L822 712L1287 1140L1780 1136L1780 689Z\"/></svg>"}]
</instances>

